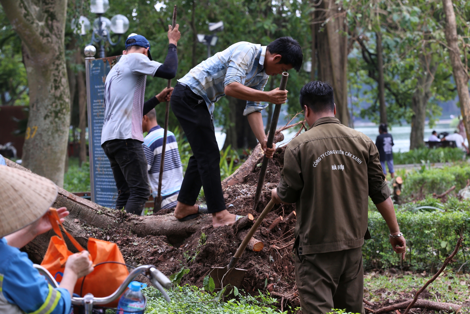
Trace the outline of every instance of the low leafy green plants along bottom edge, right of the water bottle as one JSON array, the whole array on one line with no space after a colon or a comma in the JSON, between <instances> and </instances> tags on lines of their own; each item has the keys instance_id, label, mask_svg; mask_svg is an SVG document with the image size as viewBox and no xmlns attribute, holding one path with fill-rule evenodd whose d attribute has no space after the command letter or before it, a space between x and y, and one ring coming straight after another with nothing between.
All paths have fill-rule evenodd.
<instances>
[{"instance_id":1,"label":"low leafy green plants along bottom edge, right of the water bottle","mask_svg":"<svg viewBox=\"0 0 470 314\"><path fill-rule=\"evenodd\" d=\"M146 314L279 314L277 299L269 294L259 294L252 297L249 294L238 294L237 299L226 302L216 300L216 294L197 288L196 286L184 285L168 291L172 299L167 303L160 291L154 287L142 290L147 297ZM221 299L221 298L220 298ZM287 314L287 311L281 312Z\"/></svg>"}]
</instances>

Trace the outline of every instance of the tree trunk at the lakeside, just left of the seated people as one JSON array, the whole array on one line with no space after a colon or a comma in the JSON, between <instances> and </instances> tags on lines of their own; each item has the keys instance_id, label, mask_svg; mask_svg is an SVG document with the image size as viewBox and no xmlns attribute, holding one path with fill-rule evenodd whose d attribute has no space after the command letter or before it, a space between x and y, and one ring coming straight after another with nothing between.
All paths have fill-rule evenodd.
<instances>
[{"instance_id":1,"label":"tree trunk at the lakeside, just left of the seated people","mask_svg":"<svg viewBox=\"0 0 470 314\"><path fill-rule=\"evenodd\" d=\"M413 109L414 114L411 117L410 150L424 146L426 108L432 96L431 85L438 68L438 64L431 53L428 53L426 56L421 54L419 59L421 72L425 74L418 77L416 89L411 99L411 109Z\"/></svg>"}]
</instances>

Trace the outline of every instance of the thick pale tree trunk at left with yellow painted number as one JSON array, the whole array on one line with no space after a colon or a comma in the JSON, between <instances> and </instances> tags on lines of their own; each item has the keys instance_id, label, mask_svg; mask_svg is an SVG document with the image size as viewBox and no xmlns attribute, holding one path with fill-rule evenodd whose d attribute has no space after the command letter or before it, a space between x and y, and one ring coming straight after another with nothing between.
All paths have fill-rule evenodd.
<instances>
[{"instance_id":1,"label":"thick pale tree trunk at left with yellow painted number","mask_svg":"<svg viewBox=\"0 0 470 314\"><path fill-rule=\"evenodd\" d=\"M30 94L23 164L63 186L70 126L64 54L66 0L0 0L21 38Z\"/></svg>"}]
</instances>

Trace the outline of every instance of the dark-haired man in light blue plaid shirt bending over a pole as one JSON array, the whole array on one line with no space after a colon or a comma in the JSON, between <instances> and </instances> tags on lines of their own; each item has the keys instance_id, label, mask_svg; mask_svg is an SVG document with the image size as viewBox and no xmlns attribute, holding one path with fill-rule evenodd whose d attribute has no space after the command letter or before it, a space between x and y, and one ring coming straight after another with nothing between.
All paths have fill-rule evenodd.
<instances>
[{"instance_id":1,"label":"dark-haired man in light blue plaid shirt bending over a pole","mask_svg":"<svg viewBox=\"0 0 470 314\"><path fill-rule=\"evenodd\" d=\"M181 124L193 156L181 184L174 216L180 221L194 219L198 213L212 214L212 225L233 225L236 216L226 207L220 183L220 153L215 139L214 103L224 95L246 100L243 115L263 148L272 158L275 150L267 148L261 110L270 102L283 104L287 90L263 91L268 76L295 68L300 70L303 55L296 40L281 37L268 46L246 41L233 44L224 51L196 65L173 89L171 105ZM201 186L207 209L195 205Z\"/></svg>"}]
</instances>

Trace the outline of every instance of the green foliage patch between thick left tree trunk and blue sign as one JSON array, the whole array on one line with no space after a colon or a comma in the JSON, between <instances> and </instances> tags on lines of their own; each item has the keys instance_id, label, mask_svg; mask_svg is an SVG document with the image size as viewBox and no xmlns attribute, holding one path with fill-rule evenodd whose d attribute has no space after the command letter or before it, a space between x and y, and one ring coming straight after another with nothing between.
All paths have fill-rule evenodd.
<instances>
[{"instance_id":1,"label":"green foliage patch between thick left tree trunk and blue sign","mask_svg":"<svg viewBox=\"0 0 470 314\"><path fill-rule=\"evenodd\" d=\"M63 188L71 193L73 192L89 192L90 188L90 164L82 163L82 167L78 167L77 158L69 158L69 171L63 177Z\"/></svg>"}]
</instances>

